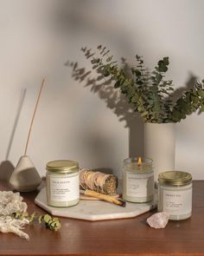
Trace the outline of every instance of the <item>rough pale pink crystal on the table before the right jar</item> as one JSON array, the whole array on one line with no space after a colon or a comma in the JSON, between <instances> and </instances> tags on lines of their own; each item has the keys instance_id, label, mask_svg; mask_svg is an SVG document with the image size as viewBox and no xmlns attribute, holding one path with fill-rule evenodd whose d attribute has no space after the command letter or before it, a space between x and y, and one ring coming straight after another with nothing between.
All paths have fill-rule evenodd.
<instances>
[{"instance_id":1,"label":"rough pale pink crystal on the table before the right jar","mask_svg":"<svg viewBox=\"0 0 204 256\"><path fill-rule=\"evenodd\" d=\"M147 223L154 228L164 228L169 220L169 213L155 213L147 219Z\"/></svg>"}]
</instances>

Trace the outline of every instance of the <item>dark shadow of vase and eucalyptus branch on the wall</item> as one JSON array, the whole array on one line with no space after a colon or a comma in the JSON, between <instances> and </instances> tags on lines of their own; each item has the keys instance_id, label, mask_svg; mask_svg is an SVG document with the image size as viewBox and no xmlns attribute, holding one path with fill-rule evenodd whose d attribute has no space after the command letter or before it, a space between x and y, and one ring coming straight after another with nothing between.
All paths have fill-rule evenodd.
<instances>
[{"instance_id":1,"label":"dark shadow of vase and eucalyptus branch on the wall","mask_svg":"<svg viewBox=\"0 0 204 256\"><path fill-rule=\"evenodd\" d=\"M94 77L92 70L76 68L77 62L66 62L65 65L72 69L72 77L75 81L83 83L85 88L97 94L105 101L106 107L112 109L118 116L118 120L125 122L125 128L129 128L129 157L143 155L143 121L131 108L125 96L113 87L112 80L105 80L104 76L99 74Z\"/></svg>"}]
</instances>

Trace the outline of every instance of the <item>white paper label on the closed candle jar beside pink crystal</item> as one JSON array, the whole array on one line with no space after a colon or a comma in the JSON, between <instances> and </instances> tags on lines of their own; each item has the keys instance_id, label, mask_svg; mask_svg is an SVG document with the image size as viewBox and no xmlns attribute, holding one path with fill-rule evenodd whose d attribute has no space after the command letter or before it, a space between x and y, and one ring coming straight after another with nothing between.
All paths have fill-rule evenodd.
<instances>
[{"instance_id":1,"label":"white paper label on the closed candle jar beside pink crystal","mask_svg":"<svg viewBox=\"0 0 204 256\"><path fill-rule=\"evenodd\" d=\"M163 189L163 212L182 215L192 211L192 188L181 191Z\"/></svg>"}]
</instances>

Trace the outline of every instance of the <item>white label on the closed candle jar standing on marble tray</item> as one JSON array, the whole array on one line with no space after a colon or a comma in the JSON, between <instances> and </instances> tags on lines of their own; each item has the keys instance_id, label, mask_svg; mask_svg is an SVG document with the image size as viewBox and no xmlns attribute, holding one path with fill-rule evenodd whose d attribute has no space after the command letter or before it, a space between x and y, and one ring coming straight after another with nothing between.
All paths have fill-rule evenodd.
<instances>
[{"instance_id":1,"label":"white label on the closed candle jar standing on marble tray","mask_svg":"<svg viewBox=\"0 0 204 256\"><path fill-rule=\"evenodd\" d=\"M79 175L73 177L49 177L50 200L70 201L80 197Z\"/></svg>"}]
</instances>

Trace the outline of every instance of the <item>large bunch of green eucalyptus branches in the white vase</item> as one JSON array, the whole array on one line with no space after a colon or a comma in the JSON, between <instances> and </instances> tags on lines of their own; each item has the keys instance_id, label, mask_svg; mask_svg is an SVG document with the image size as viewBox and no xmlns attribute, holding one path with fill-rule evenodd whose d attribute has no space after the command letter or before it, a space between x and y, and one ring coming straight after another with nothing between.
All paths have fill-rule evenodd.
<instances>
[{"instance_id":1,"label":"large bunch of green eucalyptus branches in the white vase","mask_svg":"<svg viewBox=\"0 0 204 256\"><path fill-rule=\"evenodd\" d=\"M81 50L86 58L91 60L92 69L114 82L114 88L119 89L127 97L144 122L178 122L197 109L204 112L203 81L197 81L193 89L184 91L182 96L173 102L172 95L175 92L173 81L165 80L169 57L163 57L157 62L156 67L149 71L144 66L143 57L136 55L137 65L129 67L131 76L127 75L124 67L113 59L110 50L106 47L99 45L96 52L86 47ZM73 70L81 71L74 65Z\"/></svg>"}]
</instances>

